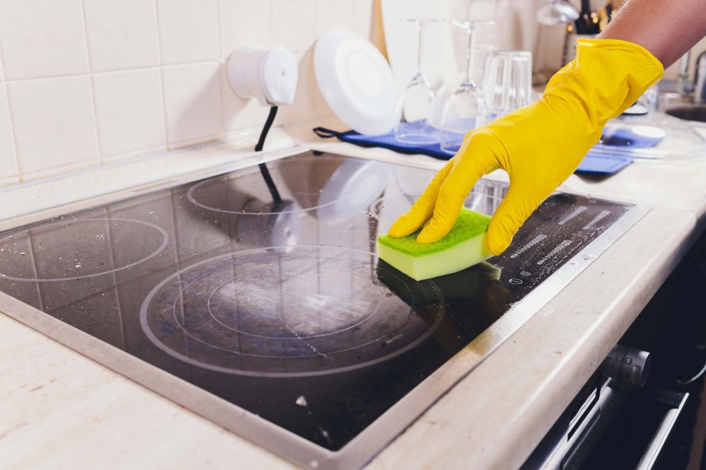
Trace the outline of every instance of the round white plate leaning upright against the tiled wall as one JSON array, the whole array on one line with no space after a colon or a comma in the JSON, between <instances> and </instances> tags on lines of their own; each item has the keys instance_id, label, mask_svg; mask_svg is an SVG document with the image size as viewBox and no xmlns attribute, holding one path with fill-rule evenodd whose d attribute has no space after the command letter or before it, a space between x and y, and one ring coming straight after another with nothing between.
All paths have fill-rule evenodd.
<instances>
[{"instance_id":1,"label":"round white plate leaning upright against the tiled wall","mask_svg":"<svg viewBox=\"0 0 706 470\"><path fill-rule=\"evenodd\" d=\"M371 42L342 28L328 30L316 42L313 68L321 94L341 121L365 135L392 131L399 93L390 64Z\"/></svg>"}]
</instances>

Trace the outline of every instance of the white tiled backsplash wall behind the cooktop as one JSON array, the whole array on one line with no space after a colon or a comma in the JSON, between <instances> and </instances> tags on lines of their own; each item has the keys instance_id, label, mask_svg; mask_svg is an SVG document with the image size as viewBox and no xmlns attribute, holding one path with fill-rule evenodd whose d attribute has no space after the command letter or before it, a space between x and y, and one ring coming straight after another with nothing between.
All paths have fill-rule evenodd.
<instances>
[{"instance_id":1,"label":"white tiled backsplash wall behind the cooktop","mask_svg":"<svg viewBox=\"0 0 706 470\"><path fill-rule=\"evenodd\" d=\"M368 37L373 0L0 1L0 184L260 126L221 64L239 45L298 57L341 26Z\"/></svg>"}]
</instances>

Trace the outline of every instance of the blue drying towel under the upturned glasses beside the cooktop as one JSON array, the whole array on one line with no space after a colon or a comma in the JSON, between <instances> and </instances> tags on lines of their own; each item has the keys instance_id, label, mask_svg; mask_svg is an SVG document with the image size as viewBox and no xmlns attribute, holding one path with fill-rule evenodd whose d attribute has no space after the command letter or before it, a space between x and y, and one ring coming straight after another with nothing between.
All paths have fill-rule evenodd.
<instances>
[{"instance_id":1,"label":"blue drying towel under the upturned glasses beside the cooktop","mask_svg":"<svg viewBox=\"0 0 706 470\"><path fill-rule=\"evenodd\" d=\"M335 137L343 142L360 145L361 147L382 147L407 155L429 155L429 157L444 160L448 160L453 157L453 155L449 155L441 150L438 143L429 145L402 143L395 139L395 133L393 132L382 135L361 135L356 131L337 132L323 127L314 128L313 132L321 138ZM625 157L624 155L604 153L599 155L588 152L588 155L584 157L578 169L576 169L576 172L595 175L615 174L632 162L632 159Z\"/></svg>"}]
</instances>

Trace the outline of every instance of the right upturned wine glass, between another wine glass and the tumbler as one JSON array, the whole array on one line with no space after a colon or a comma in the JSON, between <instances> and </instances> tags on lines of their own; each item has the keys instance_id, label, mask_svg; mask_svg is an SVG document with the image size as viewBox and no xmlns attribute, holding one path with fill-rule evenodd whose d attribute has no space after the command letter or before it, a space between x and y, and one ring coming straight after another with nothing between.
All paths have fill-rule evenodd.
<instances>
[{"instance_id":1,"label":"right upturned wine glass, between another wine glass and the tumbler","mask_svg":"<svg viewBox=\"0 0 706 470\"><path fill-rule=\"evenodd\" d=\"M451 24L466 30L465 78L443 107L441 115L441 150L453 155L461 147L463 138L472 128L482 125L484 116L483 95L473 80L476 30L481 26L494 25L493 21L452 20Z\"/></svg>"}]
</instances>

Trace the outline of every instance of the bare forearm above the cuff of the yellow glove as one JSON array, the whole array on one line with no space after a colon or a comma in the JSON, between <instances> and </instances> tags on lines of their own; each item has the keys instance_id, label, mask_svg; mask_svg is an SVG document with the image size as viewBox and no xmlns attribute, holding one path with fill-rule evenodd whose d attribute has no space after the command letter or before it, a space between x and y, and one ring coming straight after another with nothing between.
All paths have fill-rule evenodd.
<instances>
[{"instance_id":1,"label":"bare forearm above the cuff of the yellow glove","mask_svg":"<svg viewBox=\"0 0 706 470\"><path fill-rule=\"evenodd\" d=\"M640 44L667 68L704 36L704 0L629 0L600 37Z\"/></svg>"}]
</instances>

